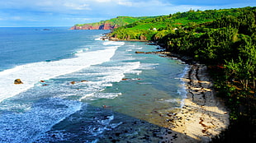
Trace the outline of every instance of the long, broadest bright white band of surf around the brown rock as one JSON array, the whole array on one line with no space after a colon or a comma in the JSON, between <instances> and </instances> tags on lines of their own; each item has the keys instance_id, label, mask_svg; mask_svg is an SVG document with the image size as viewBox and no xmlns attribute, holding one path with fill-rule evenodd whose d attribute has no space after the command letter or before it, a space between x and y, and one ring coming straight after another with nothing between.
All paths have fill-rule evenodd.
<instances>
[{"instance_id":1,"label":"long, broadest bright white band of surf around the brown rock","mask_svg":"<svg viewBox=\"0 0 256 143\"><path fill-rule=\"evenodd\" d=\"M36 85L41 80L49 80L56 76L79 71L85 67L97 65L102 62L107 62L115 54L118 46L122 42L113 42L104 44L106 49L92 52L78 52L76 58L67 58L54 62L34 62L26 65L14 67L0 72L0 102L23 91L26 91ZM14 85L16 79L21 79L24 84Z\"/></svg>"}]
</instances>

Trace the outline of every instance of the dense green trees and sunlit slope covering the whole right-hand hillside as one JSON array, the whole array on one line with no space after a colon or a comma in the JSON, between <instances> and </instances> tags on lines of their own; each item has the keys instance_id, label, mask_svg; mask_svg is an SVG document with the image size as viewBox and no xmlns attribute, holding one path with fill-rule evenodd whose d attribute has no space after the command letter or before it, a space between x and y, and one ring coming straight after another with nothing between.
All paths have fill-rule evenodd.
<instances>
[{"instance_id":1,"label":"dense green trees and sunlit slope covering the whole right-hand hillside","mask_svg":"<svg viewBox=\"0 0 256 143\"><path fill-rule=\"evenodd\" d=\"M256 7L178 12L113 30L116 39L147 39L211 69L218 95L230 108L230 127L214 141L256 137Z\"/></svg>"}]
</instances>

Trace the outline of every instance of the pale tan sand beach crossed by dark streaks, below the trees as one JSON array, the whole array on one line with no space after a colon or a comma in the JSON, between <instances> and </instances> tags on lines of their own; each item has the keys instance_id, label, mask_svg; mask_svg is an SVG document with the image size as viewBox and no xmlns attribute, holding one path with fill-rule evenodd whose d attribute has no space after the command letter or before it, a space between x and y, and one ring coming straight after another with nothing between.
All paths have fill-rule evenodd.
<instances>
[{"instance_id":1,"label":"pale tan sand beach crossed by dark streaks, below the trees","mask_svg":"<svg viewBox=\"0 0 256 143\"><path fill-rule=\"evenodd\" d=\"M201 64L190 65L183 81L187 98L183 108L173 114L173 131L180 132L173 142L209 142L229 125L229 113L215 96L213 85Z\"/></svg>"}]
</instances>

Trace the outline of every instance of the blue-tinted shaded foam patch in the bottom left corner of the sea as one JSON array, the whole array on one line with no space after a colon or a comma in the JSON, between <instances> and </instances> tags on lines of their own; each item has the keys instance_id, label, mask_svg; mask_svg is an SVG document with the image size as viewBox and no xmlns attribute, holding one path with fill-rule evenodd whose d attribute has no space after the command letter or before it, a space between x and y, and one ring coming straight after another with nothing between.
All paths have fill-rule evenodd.
<instances>
[{"instance_id":1,"label":"blue-tinted shaded foam patch in the bottom left corner of the sea","mask_svg":"<svg viewBox=\"0 0 256 143\"><path fill-rule=\"evenodd\" d=\"M51 98L34 104L26 113L5 113L0 118L0 142L33 142L81 107L81 102Z\"/></svg>"}]
</instances>

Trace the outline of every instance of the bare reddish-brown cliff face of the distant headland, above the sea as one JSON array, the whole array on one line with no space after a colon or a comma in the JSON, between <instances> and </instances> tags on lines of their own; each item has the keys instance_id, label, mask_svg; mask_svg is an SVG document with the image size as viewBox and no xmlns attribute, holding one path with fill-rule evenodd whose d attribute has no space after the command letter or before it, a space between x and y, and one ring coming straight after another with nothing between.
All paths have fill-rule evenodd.
<instances>
[{"instance_id":1,"label":"bare reddish-brown cliff face of the distant headland, above the sea","mask_svg":"<svg viewBox=\"0 0 256 143\"><path fill-rule=\"evenodd\" d=\"M110 23L104 23L102 25L74 25L70 30L112 30L119 27L118 25L111 25Z\"/></svg>"}]
</instances>

